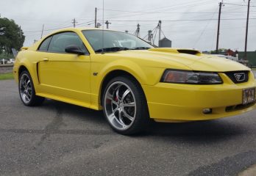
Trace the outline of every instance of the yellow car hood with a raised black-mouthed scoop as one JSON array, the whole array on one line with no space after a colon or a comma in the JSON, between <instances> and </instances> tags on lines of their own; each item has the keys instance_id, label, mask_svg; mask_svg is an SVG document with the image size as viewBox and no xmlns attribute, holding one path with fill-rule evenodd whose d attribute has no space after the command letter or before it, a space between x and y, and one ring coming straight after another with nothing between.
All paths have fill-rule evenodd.
<instances>
[{"instance_id":1,"label":"yellow car hood with a raised black-mouthed scoop","mask_svg":"<svg viewBox=\"0 0 256 176\"><path fill-rule=\"evenodd\" d=\"M149 67L175 68L182 65L189 70L227 72L235 70L250 70L230 59L202 54L199 51L179 48L150 48L149 50L129 50L108 53L122 58L143 60L143 65Z\"/></svg>"}]
</instances>

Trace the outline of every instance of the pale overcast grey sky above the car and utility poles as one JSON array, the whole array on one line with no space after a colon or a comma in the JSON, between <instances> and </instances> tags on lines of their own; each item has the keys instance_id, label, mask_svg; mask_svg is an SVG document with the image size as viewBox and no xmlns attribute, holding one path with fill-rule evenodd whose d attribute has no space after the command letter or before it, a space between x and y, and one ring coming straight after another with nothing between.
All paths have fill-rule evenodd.
<instances>
[{"instance_id":1,"label":"pale overcast grey sky above the car and utility poles","mask_svg":"<svg viewBox=\"0 0 256 176\"><path fill-rule=\"evenodd\" d=\"M221 0L219 0L221 1ZM172 41L174 48L216 49L218 3L216 0L0 0L1 18L13 19L26 36L29 46L53 29L73 26L94 27L97 7L98 23L110 21L110 29L134 34L141 25L140 37L162 22L161 37ZM224 0L221 7L219 48L243 51L248 0ZM104 6L103 6L104 4ZM239 4L239 5L235 5ZM104 18L103 18L104 7ZM251 0L247 51L256 51L256 0ZM106 28L106 26L104 26ZM154 43L157 43L158 34Z\"/></svg>"}]
</instances>

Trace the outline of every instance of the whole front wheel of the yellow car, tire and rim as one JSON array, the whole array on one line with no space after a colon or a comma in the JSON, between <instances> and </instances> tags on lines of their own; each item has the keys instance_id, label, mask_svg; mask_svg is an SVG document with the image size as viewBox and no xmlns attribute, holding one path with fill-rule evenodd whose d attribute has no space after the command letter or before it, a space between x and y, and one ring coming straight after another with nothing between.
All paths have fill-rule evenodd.
<instances>
[{"instance_id":1,"label":"whole front wheel of the yellow car, tire and rim","mask_svg":"<svg viewBox=\"0 0 256 176\"><path fill-rule=\"evenodd\" d=\"M146 98L140 85L132 78L113 78L104 89L102 102L104 116L118 133L138 133L149 120Z\"/></svg>"}]
</instances>

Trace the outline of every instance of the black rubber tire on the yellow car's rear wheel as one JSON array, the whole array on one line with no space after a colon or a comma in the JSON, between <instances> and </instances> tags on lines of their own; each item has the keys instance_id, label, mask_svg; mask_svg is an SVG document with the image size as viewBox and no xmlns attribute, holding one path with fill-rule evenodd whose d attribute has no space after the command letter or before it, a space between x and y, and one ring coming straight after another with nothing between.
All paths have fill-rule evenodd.
<instances>
[{"instance_id":1,"label":"black rubber tire on the yellow car's rear wheel","mask_svg":"<svg viewBox=\"0 0 256 176\"><path fill-rule=\"evenodd\" d=\"M27 81L30 81L29 86L26 85L26 87L29 87L29 88L26 88L26 91L29 95L31 95L30 98L28 98L29 96L24 95L24 84L22 84L23 80L21 80L23 78L26 78ZM26 105L26 106L39 106L40 104L43 103L43 100L45 99L45 98L35 95L35 87L34 87L32 78L27 70L22 71L18 78L18 92L21 97L22 103L24 103L24 105ZM23 95L27 99L23 98Z\"/></svg>"}]
</instances>

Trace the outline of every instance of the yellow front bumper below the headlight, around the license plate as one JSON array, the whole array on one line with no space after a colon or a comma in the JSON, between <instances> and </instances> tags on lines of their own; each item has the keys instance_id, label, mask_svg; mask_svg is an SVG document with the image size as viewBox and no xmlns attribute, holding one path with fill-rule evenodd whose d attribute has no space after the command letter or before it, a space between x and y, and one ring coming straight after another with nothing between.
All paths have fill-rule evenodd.
<instances>
[{"instance_id":1,"label":"yellow front bumper below the headlight, around the license plate","mask_svg":"<svg viewBox=\"0 0 256 176\"><path fill-rule=\"evenodd\" d=\"M243 89L256 87L252 73L249 73L249 81L242 84L234 84L224 73L219 75L224 84L143 85L150 117L160 122L213 120L256 109L255 103L242 105ZM204 114L203 109L212 111Z\"/></svg>"}]
</instances>

